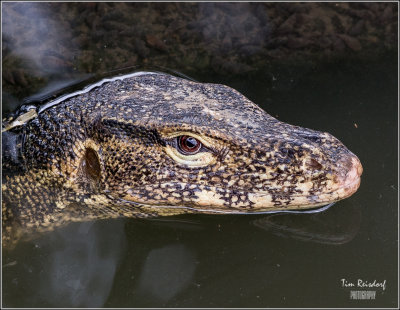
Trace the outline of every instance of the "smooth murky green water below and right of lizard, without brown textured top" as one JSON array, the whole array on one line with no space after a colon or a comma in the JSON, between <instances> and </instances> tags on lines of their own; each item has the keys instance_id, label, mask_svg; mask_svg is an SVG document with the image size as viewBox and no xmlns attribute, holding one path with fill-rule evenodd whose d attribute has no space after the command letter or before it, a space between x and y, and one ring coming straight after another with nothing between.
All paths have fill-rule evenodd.
<instances>
[{"instance_id":1,"label":"smooth murky green water below and right of lizard, without brown textured top","mask_svg":"<svg viewBox=\"0 0 400 310\"><path fill-rule=\"evenodd\" d=\"M319 214L74 223L3 251L3 306L395 307L396 59L192 75L339 138L363 164L358 192ZM385 287L358 288L359 279Z\"/></svg>"}]
</instances>

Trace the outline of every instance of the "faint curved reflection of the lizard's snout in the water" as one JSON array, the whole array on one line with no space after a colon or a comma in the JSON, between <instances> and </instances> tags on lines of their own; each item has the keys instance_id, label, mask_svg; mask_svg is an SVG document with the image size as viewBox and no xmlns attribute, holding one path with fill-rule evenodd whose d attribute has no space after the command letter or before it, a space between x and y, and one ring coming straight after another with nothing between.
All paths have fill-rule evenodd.
<instances>
[{"instance_id":1,"label":"faint curved reflection of the lizard's snout in the water","mask_svg":"<svg viewBox=\"0 0 400 310\"><path fill-rule=\"evenodd\" d=\"M255 220L253 224L277 236L322 244L345 244L360 229L358 206L329 208L315 214L273 214Z\"/></svg>"}]
</instances>

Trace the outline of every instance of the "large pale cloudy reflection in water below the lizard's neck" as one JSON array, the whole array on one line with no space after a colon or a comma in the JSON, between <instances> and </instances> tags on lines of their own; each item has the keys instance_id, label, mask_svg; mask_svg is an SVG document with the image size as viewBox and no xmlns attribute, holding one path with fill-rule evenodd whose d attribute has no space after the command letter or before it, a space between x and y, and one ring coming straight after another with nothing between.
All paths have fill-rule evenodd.
<instances>
[{"instance_id":1,"label":"large pale cloudy reflection in water below the lizard's neck","mask_svg":"<svg viewBox=\"0 0 400 310\"><path fill-rule=\"evenodd\" d=\"M4 261L11 264L3 269L3 296L13 300L5 306L102 307L122 254L122 236L123 221L72 224L46 234L36 240L36 257L15 253L17 259Z\"/></svg>"}]
</instances>

